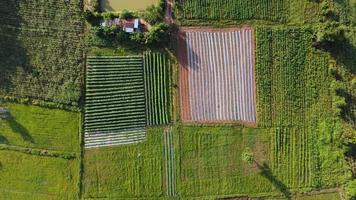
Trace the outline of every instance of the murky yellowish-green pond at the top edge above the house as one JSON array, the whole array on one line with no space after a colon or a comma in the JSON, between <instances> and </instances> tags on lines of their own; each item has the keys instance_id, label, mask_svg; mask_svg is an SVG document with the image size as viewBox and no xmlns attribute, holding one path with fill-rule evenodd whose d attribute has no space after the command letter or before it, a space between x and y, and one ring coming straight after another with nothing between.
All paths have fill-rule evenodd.
<instances>
[{"instance_id":1,"label":"murky yellowish-green pond at the top edge above the house","mask_svg":"<svg viewBox=\"0 0 356 200\"><path fill-rule=\"evenodd\" d=\"M105 11L122 11L122 10L144 10L148 6L156 5L158 0L100 0L102 9Z\"/></svg>"}]
</instances>

